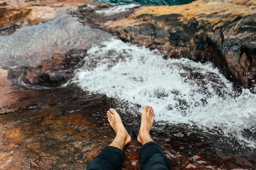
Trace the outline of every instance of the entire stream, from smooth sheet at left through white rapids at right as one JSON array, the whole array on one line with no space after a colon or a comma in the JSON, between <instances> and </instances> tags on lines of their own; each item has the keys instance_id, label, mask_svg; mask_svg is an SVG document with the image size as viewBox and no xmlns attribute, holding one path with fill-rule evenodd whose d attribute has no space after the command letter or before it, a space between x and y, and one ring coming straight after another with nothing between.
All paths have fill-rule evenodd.
<instances>
[{"instance_id":1,"label":"entire stream, from smooth sheet at left through white rapids at right","mask_svg":"<svg viewBox=\"0 0 256 170\"><path fill-rule=\"evenodd\" d=\"M153 106L155 133L180 127L188 131L173 135L186 138L196 130L238 153L255 152L256 94L235 90L212 63L165 59L157 50L122 42L68 14L1 35L0 67L36 66L73 48L87 49L88 55L64 86L76 83L89 95L113 98L116 109L129 117L139 118L142 106Z\"/></svg>"}]
</instances>

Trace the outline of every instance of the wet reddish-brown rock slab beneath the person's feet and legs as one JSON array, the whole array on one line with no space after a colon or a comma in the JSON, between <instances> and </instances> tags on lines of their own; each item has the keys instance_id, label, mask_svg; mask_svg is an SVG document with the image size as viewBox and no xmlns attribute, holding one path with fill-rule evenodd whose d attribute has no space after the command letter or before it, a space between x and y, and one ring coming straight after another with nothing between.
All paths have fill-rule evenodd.
<instances>
[{"instance_id":1,"label":"wet reddish-brown rock slab beneath the person's feet and legs","mask_svg":"<svg viewBox=\"0 0 256 170\"><path fill-rule=\"evenodd\" d=\"M115 137L106 111L126 108L125 102L84 92L73 84L48 90L13 88L18 102L7 107L23 109L0 116L1 169L86 169ZM117 110L132 137L124 150L122 169L139 169L141 146L136 138L141 113L126 110ZM219 136L196 128L160 122L153 125L151 136L174 169L250 169L256 164L253 152L234 149L220 142Z\"/></svg>"}]
</instances>

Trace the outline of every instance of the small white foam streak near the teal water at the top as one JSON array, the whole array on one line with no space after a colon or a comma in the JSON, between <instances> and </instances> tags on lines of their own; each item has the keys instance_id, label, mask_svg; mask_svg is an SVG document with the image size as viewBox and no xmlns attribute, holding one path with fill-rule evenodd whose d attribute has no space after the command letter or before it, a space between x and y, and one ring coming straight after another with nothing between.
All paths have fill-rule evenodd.
<instances>
[{"instance_id":1,"label":"small white foam streak near the teal water at the top","mask_svg":"<svg viewBox=\"0 0 256 170\"><path fill-rule=\"evenodd\" d=\"M118 5L118 6L114 6L114 7L110 7L110 8L106 8L106 9L102 9L102 10L95 10L96 13L99 14L104 14L104 15L113 15L115 13L121 13L121 12L126 12L128 11L130 8L134 8L134 7L138 7L139 5L136 4L129 4L129 5Z\"/></svg>"}]
</instances>

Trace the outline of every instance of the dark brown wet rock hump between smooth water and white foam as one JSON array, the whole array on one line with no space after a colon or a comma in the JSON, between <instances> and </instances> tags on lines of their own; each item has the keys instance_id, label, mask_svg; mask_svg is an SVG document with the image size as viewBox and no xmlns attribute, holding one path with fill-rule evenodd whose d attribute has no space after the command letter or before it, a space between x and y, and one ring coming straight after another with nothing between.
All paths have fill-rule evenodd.
<instances>
[{"instance_id":1,"label":"dark brown wet rock hump between smooth water and white foam","mask_svg":"<svg viewBox=\"0 0 256 170\"><path fill-rule=\"evenodd\" d=\"M54 54L51 60L43 60L36 68L26 73L26 81L43 86L60 86L72 77L75 69L80 68L86 50L69 50L66 54Z\"/></svg>"}]
</instances>

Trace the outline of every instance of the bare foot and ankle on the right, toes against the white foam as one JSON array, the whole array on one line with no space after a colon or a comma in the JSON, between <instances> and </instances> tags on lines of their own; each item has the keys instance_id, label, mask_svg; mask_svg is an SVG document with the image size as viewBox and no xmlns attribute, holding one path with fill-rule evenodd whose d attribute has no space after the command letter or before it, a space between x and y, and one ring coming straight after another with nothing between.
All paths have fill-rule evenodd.
<instances>
[{"instance_id":1,"label":"bare foot and ankle on the right, toes against the white foam","mask_svg":"<svg viewBox=\"0 0 256 170\"><path fill-rule=\"evenodd\" d=\"M149 135L149 132L152 128L154 117L155 117L155 114L154 114L153 108L148 105L144 106L143 112L141 115L141 128L140 128L139 135L137 137L138 142L141 143L142 145L144 145L147 142L153 141Z\"/></svg>"}]
</instances>

